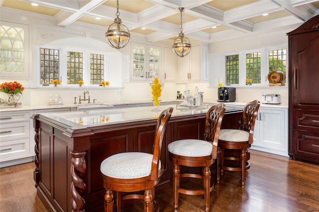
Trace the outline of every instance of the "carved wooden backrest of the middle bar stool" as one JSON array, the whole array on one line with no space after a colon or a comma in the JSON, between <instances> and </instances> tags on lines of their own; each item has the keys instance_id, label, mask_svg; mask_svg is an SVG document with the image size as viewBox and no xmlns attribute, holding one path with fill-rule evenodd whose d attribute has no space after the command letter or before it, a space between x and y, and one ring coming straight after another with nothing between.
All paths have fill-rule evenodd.
<instances>
[{"instance_id":1,"label":"carved wooden backrest of the middle bar stool","mask_svg":"<svg viewBox=\"0 0 319 212\"><path fill-rule=\"evenodd\" d=\"M223 103L212 106L206 113L204 141L213 143L212 158L217 157L218 135L226 107Z\"/></svg>"}]
</instances>

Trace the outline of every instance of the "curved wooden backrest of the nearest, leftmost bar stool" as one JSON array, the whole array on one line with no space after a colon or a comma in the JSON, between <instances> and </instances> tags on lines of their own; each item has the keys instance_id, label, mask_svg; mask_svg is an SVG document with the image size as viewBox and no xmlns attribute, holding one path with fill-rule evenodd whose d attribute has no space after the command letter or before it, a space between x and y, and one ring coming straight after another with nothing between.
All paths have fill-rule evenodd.
<instances>
[{"instance_id":1,"label":"curved wooden backrest of the nearest, leftmost bar stool","mask_svg":"<svg viewBox=\"0 0 319 212\"><path fill-rule=\"evenodd\" d=\"M156 181L159 178L159 163L162 140L166 130L167 122L173 112L173 108L169 107L160 113L155 129L155 140L153 149L153 160L151 169L151 180Z\"/></svg>"}]
</instances>

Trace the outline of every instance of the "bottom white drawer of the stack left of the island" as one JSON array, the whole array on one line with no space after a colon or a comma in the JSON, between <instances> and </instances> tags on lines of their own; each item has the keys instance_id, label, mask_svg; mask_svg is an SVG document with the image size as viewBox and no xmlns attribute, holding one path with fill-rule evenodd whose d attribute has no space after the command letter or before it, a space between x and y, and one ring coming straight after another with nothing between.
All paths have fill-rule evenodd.
<instances>
[{"instance_id":1,"label":"bottom white drawer of the stack left of the island","mask_svg":"<svg viewBox=\"0 0 319 212\"><path fill-rule=\"evenodd\" d=\"M0 161L14 160L32 156L30 152L30 139L0 142Z\"/></svg>"}]
</instances>

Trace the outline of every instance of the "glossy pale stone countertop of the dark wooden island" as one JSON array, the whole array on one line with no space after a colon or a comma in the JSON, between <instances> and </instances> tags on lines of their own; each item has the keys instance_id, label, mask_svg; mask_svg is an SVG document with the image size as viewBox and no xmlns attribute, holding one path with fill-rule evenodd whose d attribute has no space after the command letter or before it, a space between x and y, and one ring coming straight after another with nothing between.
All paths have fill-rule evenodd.
<instances>
[{"instance_id":1,"label":"glossy pale stone countertop of the dark wooden island","mask_svg":"<svg viewBox=\"0 0 319 212\"><path fill-rule=\"evenodd\" d=\"M83 128L98 125L112 125L121 123L130 123L138 121L146 121L157 119L161 111L172 107L173 113L171 117L180 117L188 115L203 114L215 104L205 104L197 107L179 106L176 104L160 105L158 111L154 111L154 106L115 108L104 110L87 110L87 111L71 111L58 113L43 113L54 122L59 122L70 128ZM242 111L242 105L226 106L225 113L233 113Z\"/></svg>"}]
</instances>

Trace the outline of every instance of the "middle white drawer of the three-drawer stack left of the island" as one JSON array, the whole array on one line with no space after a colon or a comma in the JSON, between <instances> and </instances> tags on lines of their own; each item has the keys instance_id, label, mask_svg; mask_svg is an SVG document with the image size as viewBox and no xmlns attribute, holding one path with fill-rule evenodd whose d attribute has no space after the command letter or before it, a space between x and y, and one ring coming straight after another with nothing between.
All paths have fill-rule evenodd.
<instances>
[{"instance_id":1,"label":"middle white drawer of the three-drawer stack left of the island","mask_svg":"<svg viewBox=\"0 0 319 212\"><path fill-rule=\"evenodd\" d=\"M0 141L30 137L30 122L0 124Z\"/></svg>"}]
</instances>

